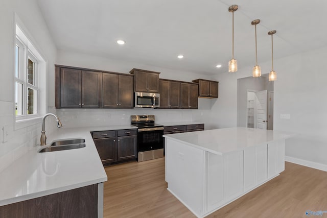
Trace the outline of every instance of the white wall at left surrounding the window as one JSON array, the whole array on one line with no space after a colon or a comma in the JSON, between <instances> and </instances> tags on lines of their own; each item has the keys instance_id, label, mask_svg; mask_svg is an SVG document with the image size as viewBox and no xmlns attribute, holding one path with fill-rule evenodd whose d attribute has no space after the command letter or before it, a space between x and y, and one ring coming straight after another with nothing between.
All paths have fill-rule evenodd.
<instances>
[{"instance_id":1,"label":"white wall at left surrounding the window","mask_svg":"<svg viewBox=\"0 0 327 218\"><path fill-rule=\"evenodd\" d=\"M0 51L0 171L13 160L24 155L30 147L35 146L41 135L40 120L35 120L24 128L14 130L14 13L24 23L23 29L27 30L26 34L46 59L48 72L54 71L56 57L56 47L36 1L2 0L0 2L0 47L2 48ZM50 89L54 89L53 76L48 77ZM54 106L53 91L51 93L50 110L52 110L51 106ZM3 143L3 126L8 128L8 141L5 143ZM51 128L48 131L51 131Z\"/></svg>"}]
</instances>

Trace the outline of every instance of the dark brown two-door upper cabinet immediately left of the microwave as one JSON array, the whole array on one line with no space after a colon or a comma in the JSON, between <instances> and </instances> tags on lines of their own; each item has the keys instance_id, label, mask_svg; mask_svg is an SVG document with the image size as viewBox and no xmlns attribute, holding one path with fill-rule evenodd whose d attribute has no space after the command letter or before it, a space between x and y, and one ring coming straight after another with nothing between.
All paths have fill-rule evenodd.
<instances>
[{"instance_id":1,"label":"dark brown two-door upper cabinet immediately left of the microwave","mask_svg":"<svg viewBox=\"0 0 327 218\"><path fill-rule=\"evenodd\" d=\"M102 107L133 108L133 76L102 74Z\"/></svg>"}]
</instances>

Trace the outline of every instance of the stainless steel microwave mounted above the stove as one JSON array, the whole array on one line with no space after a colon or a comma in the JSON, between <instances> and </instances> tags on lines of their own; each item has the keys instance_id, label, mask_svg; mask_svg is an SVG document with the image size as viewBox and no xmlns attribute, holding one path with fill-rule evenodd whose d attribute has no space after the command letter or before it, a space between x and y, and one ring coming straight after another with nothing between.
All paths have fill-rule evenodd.
<instances>
[{"instance_id":1,"label":"stainless steel microwave mounted above the stove","mask_svg":"<svg viewBox=\"0 0 327 218\"><path fill-rule=\"evenodd\" d=\"M158 108L160 106L160 94L148 92L135 92L135 107Z\"/></svg>"}]
</instances>

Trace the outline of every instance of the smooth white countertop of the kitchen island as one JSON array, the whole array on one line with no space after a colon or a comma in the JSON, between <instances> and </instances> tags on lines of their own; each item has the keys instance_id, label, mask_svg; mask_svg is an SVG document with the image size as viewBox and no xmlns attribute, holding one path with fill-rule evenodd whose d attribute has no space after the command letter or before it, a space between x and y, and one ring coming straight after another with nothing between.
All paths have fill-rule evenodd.
<instances>
[{"instance_id":1,"label":"smooth white countertop of the kitchen island","mask_svg":"<svg viewBox=\"0 0 327 218\"><path fill-rule=\"evenodd\" d=\"M293 134L280 131L233 127L164 135L165 138L189 144L214 154L244 150L262 143L292 137Z\"/></svg>"}]
</instances>

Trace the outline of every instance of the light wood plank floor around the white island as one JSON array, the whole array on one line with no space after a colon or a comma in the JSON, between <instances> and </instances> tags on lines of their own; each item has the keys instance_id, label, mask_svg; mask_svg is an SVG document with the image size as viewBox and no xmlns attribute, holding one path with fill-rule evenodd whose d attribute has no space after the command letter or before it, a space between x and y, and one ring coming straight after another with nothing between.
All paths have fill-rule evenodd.
<instances>
[{"instance_id":1,"label":"light wood plank floor around the white island","mask_svg":"<svg viewBox=\"0 0 327 218\"><path fill-rule=\"evenodd\" d=\"M104 217L195 217L166 189L165 158L105 170ZM286 162L281 175L207 217L308 217L307 210L327 210L327 172Z\"/></svg>"}]
</instances>

